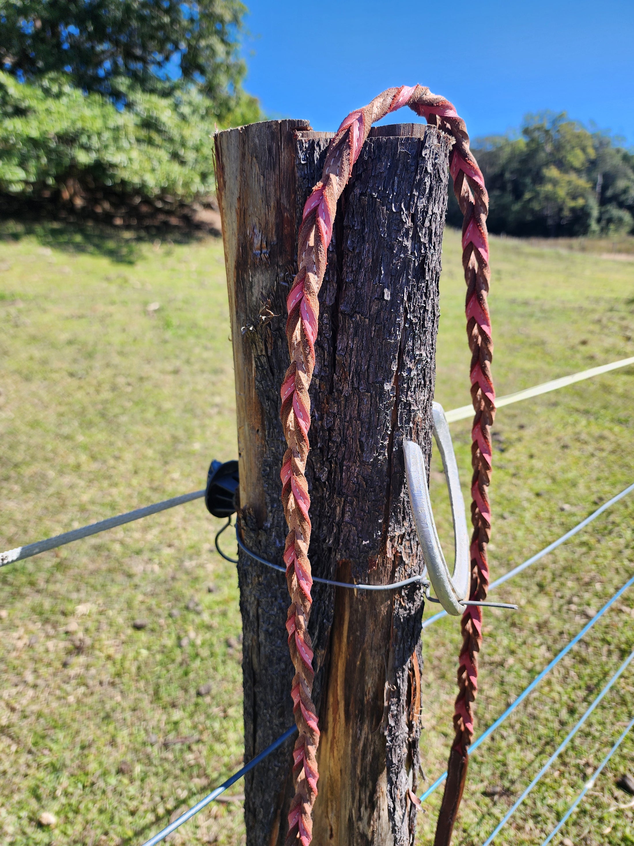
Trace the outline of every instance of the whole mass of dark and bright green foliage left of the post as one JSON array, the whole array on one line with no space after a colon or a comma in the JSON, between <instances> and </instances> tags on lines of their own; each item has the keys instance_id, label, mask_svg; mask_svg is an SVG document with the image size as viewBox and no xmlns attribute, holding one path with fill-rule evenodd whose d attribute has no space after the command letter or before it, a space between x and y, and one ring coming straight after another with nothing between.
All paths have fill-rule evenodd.
<instances>
[{"instance_id":1,"label":"whole mass of dark and bright green foliage left of the post","mask_svg":"<svg viewBox=\"0 0 634 846\"><path fill-rule=\"evenodd\" d=\"M245 12L237 0L0 0L0 191L209 194L216 125L260 118L240 87Z\"/></svg>"}]
</instances>

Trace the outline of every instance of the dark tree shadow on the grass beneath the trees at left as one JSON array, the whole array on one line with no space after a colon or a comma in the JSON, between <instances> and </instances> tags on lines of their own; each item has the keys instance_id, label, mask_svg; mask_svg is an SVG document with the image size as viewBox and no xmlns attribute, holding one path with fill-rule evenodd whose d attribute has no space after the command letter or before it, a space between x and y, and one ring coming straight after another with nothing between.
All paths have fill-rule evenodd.
<instances>
[{"instance_id":1,"label":"dark tree shadow on the grass beneath the trees at left","mask_svg":"<svg viewBox=\"0 0 634 846\"><path fill-rule=\"evenodd\" d=\"M42 246L55 250L105 255L112 261L133 265L142 257L143 244L188 244L215 236L197 229L123 228L92 220L0 221L0 241L19 241L27 237L35 237Z\"/></svg>"}]
</instances>

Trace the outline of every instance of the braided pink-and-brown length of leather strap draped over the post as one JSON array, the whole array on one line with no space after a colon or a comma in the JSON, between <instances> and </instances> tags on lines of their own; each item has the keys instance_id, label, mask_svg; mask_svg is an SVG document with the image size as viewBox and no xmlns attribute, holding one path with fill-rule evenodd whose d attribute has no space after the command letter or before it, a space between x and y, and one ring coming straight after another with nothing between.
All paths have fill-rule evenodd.
<instances>
[{"instance_id":1,"label":"braided pink-and-brown length of leather strap draped over the post","mask_svg":"<svg viewBox=\"0 0 634 846\"><path fill-rule=\"evenodd\" d=\"M428 124L453 136L450 172L463 215L462 265L467 281L467 335L472 352L471 393L473 420L473 484L471 545L472 580L470 598L484 600L489 585L486 545L490 534L487 488L491 475L489 427L495 415L495 393L490 373L493 353L491 324L487 308L489 292L489 245L486 217L489 196L478 163L469 150L469 136L462 118L451 102L431 94L421 85L389 88L368 106L350 113L331 140L322 178L303 208L298 234L298 273L287 298L287 341L291 364L281 385L281 423L287 451L281 468L281 501L288 535L284 550L288 592L288 645L295 675L292 700L299 736L293 750L295 796L288 814L288 846L308 846L312 839L312 810L317 797L316 750L320 739L318 718L311 698L314 680L313 651L308 632L313 583L309 561L310 497L306 481L309 453L309 385L314 371L314 341L320 306L317 299L324 279L327 250L331 243L336 203L342 195L369 129L375 121L402 106L409 106ZM473 738L473 700L477 690L477 653L482 640L482 615L478 607L467 607L462 618L463 644L458 670L460 692L456 699L454 747L466 755ZM450 831L451 836L451 831Z\"/></svg>"}]
</instances>

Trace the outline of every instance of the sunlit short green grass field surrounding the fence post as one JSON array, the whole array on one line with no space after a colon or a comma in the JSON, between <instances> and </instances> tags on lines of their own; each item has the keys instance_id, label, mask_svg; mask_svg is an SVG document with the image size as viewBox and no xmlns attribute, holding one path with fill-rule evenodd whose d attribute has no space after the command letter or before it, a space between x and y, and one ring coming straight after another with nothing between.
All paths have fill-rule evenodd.
<instances>
[{"instance_id":1,"label":"sunlit short green grass field surrounding the fence post","mask_svg":"<svg viewBox=\"0 0 634 846\"><path fill-rule=\"evenodd\" d=\"M458 244L446 234L445 409L468 402ZM611 250L493 239L499 395L634 355L634 262ZM104 244L14 228L0 270L0 549L194 491L210 459L235 456L220 242ZM493 578L634 481L633 427L632 367L500 409ZM469 428L452 425L466 497ZM443 486L435 459L451 547ZM633 517L634 495L497 591L520 610L485 613L476 733L634 573ZM0 569L0 846L139 844L240 766L238 585L213 548L219 525L197 501ZM455 843L484 842L634 648L633 615L634 589L473 755ZM455 619L424 631L428 784L445 768L459 640ZM634 716L632 692L634 669L497 843L542 842ZM634 733L559 842L634 843L632 809L609 810L629 802L615 778L634 772L633 754ZM484 795L492 787L495 798ZM243 842L242 791L172 842ZM440 797L419 815L420 844L433 841ZM38 822L43 812L56 827Z\"/></svg>"}]
</instances>

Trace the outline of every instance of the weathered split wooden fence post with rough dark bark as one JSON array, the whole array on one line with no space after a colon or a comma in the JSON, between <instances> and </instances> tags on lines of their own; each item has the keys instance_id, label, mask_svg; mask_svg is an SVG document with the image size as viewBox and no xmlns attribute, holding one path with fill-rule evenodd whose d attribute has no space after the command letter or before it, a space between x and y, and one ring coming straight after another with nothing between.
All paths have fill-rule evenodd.
<instances>
[{"instance_id":1,"label":"weathered split wooden fence post with rough dark bark","mask_svg":"<svg viewBox=\"0 0 634 846\"><path fill-rule=\"evenodd\" d=\"M281 564L286 298L302 209L330 135L270 121L216 135L218 201L236 374L240 511L247 547ZM450 140L434 127L370 131L336 214L320 291L307 466L313 574L388 583L420 573L402 440L429 462L440 247ZM240 553L245 759L293 724L287 585ZM314 584L320 711L314 843L404 844L418 779L423 589ZM249 846L283 843L292 740L246 779Z\"/></svg>"}]
</instances>

